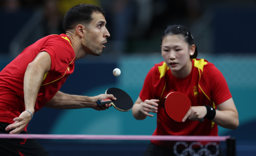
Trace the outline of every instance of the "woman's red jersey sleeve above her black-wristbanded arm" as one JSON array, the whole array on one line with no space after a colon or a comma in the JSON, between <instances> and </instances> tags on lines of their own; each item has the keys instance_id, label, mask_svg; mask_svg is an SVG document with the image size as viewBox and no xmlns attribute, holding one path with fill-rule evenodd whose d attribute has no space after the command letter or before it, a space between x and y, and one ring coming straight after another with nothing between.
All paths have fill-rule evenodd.
<instances>
[{"instance_id":1,"label":"woman's red jersey sleeve above her black-wristbanded arm","mask_svg":"<svg viewBox=\"0 0 256 156\"><path fill-rule=\"evenodd\" d=\"M218 105L230 99L232 95L223 74L213 64L207 68L208 73L205 75L207 75L208 84L211 84L211 98Z\"/></svg>"}]
</instances>

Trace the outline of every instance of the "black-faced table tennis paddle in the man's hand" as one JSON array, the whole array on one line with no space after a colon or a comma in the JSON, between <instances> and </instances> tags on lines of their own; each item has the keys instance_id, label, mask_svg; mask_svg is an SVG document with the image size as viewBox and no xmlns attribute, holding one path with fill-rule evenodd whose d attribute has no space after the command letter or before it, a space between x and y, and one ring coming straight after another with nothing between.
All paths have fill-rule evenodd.
<instances>
[{"instance_id":1,"label":"black-faced table tennis paddle in the man's hand","mask_svg":"<svg viewBox=\"0 0 256 156\"><path fill-rule=\"evenodd\" d=\"M132 98L123 90L119 88L109 88L105 92L106 94L113 94L116 100L102 99L98 100L98 105L104 105L106 103L112 104L118 111L127 112L133 107Z\"/></svg>"}]
</instances>

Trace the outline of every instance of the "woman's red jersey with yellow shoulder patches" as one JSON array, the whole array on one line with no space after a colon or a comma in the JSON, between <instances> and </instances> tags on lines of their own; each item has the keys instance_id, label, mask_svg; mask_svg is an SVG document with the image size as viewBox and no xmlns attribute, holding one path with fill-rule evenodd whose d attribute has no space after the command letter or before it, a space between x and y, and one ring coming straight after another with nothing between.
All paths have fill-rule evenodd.
<instances>
[{"instance_id":1,"label":"woman's red jersey with yellow shoulder patches","mask_svg":"<svg viewBox=\"0 0 256 156\"><path fill-rule=\"evenodd\" d=\"M212 63L204 59L191 61L193 65L190 74L181 79L172 75L165 62L155 64L148 72L139 96L142 101L160 100L157 127L153 135L218 135L217 124L208 119L204 119L203 123L192 120L176 122L164 111L164 98L173 91L187 95L192 106L210 105L215 109L216 105L232 97L224 76ZM152 143L165 147L162 141Z\"/></svg>"}]
</instances>

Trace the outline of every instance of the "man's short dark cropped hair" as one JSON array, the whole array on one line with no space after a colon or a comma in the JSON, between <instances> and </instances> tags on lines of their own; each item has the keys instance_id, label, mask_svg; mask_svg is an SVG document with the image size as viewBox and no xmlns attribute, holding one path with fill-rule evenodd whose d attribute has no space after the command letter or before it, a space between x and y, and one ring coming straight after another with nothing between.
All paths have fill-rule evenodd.
<instances>
[{"instance_id":1,"label":"man's short dark cropped hair","mask_svg":"<svg viewBox=\"0 0 256 156\"><path fill-rule=\"evenodd\" d=\"M92 14L102 13L105 16L105 12L98 6L92 4L79 4L70 8L64 16L63 29L73 29L78 24L89 24L92 19Z\"/></svg>"}]
</instances>

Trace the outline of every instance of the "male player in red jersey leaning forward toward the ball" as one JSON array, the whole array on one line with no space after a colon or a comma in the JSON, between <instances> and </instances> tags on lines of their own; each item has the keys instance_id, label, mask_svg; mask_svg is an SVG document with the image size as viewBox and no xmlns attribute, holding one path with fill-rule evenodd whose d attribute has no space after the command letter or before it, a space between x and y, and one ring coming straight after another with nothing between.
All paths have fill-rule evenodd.
<instances>
[{"instance_id":1,"label":"male player in red jersey leaning forward toward the ball","mask_svg":"<svg viewBox=\"0 0 256 156\"><path fill-rule=\"evenodd\" d=\"M109 108L110 104L99 106L96 101L115 100L113 95L88 97L59 91L73 72L75 60L102 53L110 36L104 17L105 12L91 4L72 7L64 17L65 34L39 39L0 72L1 133L27 133L27 124L43 106L98 111ZM35 154L48 152L34 139L0 139L0 155Z\"/></svg>"}]
</instances>

